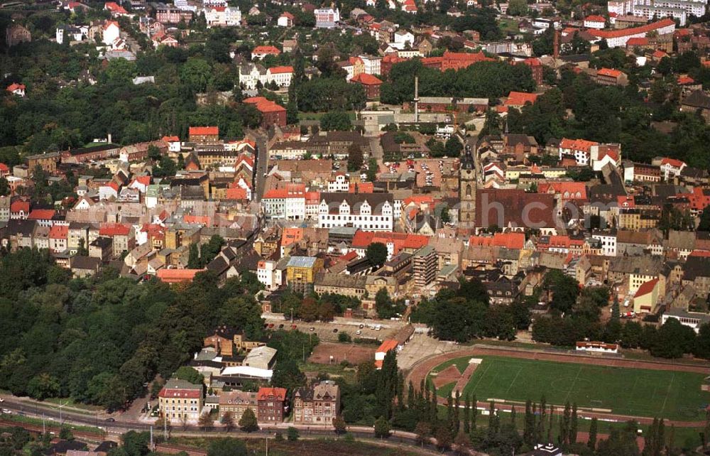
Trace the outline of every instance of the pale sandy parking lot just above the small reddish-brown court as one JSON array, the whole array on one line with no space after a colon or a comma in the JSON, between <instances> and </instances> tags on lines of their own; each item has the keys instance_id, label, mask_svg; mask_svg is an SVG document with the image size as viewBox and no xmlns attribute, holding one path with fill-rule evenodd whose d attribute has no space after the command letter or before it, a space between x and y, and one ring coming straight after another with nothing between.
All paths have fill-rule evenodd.
<instances>
[{"instance_id":1,"label":"pale sandy parking lot just above the small reddish-brown court","mask_svg":"<svg viewBox=\"0 0 710 456\"><path fill-rule=\"evenodd\" d=\"M394 335L405 325L404 322L393 320L346 320L342 317L337 317L332 322L294 320L292 323L290 320L283 320L282 317L265 315L265 320L267 325L273 325L270 326L271 329L299 330L307 334L316 334L320 340L330 341L337 341L341 332L346 333L352 339L384 340Z\"/></svg>"}]
</instances>

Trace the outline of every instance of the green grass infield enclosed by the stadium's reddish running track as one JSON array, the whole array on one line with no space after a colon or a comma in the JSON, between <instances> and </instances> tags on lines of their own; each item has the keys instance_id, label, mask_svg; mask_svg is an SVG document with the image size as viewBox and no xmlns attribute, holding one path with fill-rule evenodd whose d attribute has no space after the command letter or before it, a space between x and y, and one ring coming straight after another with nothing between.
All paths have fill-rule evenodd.
<instances>
[{"instance_id":1,"label":"green grass infield enclosed by the stadium's reddish running track","mask_svg":"<svg viewBox=\"0 0 710 456\"><path fill-rule=\"evenodd\" d=\"M471 357L452 359L439 365L438 372L455 364L463 372ZM587 364L547 362L529 359L481 356L464 393L475 393L479 401L491 398L525 402L540 401L579 408L603 408L630 416L663 417L672 420L702 420L701 410L710 393L700 391L703 374L694 372L627 369ZM447 396L454 383L439 389Z\"/></svg>"}]
</instances>

